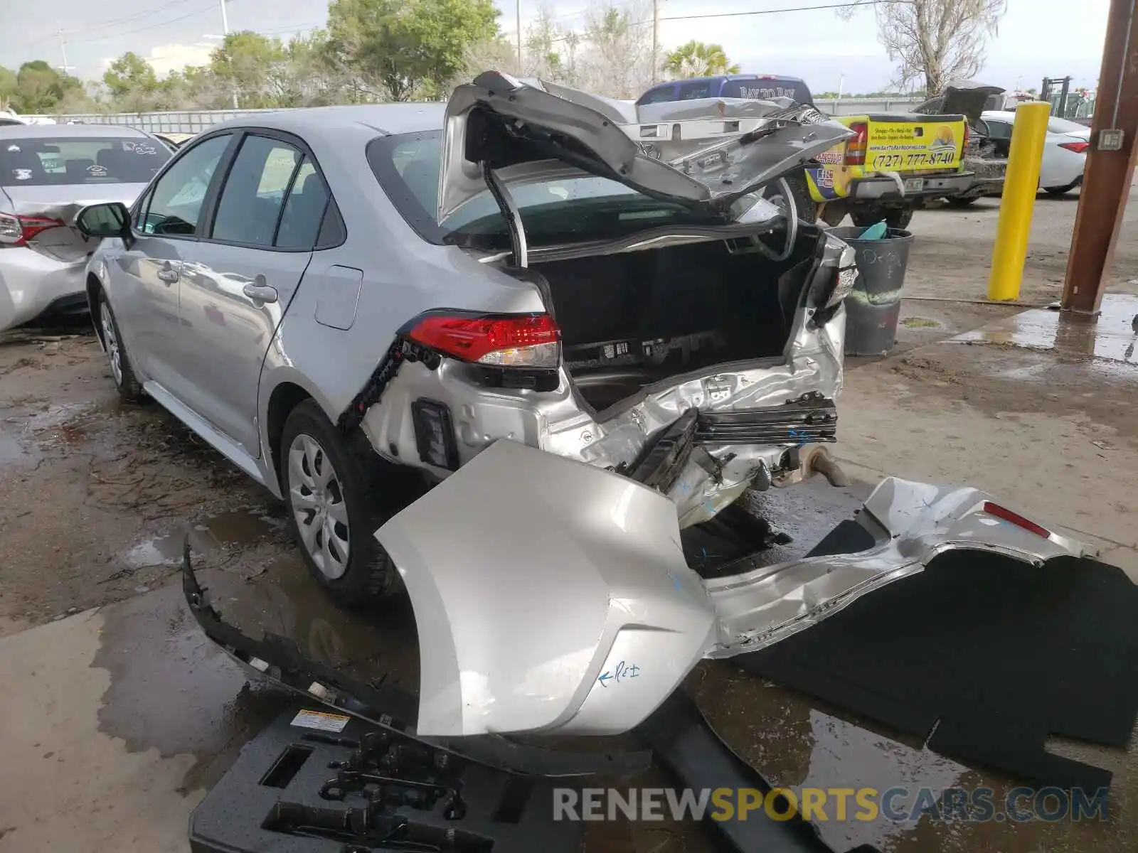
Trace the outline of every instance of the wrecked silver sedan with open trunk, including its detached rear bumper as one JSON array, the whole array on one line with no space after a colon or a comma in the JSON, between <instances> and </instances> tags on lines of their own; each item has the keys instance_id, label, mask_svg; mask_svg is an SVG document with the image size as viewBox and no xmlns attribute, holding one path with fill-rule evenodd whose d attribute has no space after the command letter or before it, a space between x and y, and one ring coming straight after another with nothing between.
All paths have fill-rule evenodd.
<instances>
[{"instance_id":1,"label":"wrecked silver sedan with open trunk, including its detached rear bumper","mask_svg":"<svg viewBox=\"0 0 1138 853\"><path fill-rule=\"evenodd\" d=\"M133 209L79 216L106 238L88 289L123 396L282 497L337 602L406 589L421 735L625 731L702 657L945 548L1082 547L973 490L890 480L868 549L688 565L682 531L747 489L840 475L824 446L857 275L762 198L849 131L715 105L629 122L487 73L445 111L217 125Z\"/></svg>"}]
</instances>

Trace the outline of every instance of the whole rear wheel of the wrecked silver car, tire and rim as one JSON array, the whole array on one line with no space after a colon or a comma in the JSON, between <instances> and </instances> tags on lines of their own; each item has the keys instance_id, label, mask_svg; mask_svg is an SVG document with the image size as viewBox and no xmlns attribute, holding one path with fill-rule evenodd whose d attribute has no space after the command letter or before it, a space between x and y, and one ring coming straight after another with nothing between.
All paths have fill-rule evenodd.
<instances>
[{"instance_id":1,"label":"whole rear wheel of the wrecked silver car, tire and rim","mask_svg":"<svg viewBox=\"0 0 1138 853\"><path fill-rule=\"evenodd\" d=\"M289 413L281 434L289 527L308 571L343 607L363 607L403 588L374 537L386 513L380 463L366 444L358 433L339 432L313 400Z\"/></svg>"}]
</instances>

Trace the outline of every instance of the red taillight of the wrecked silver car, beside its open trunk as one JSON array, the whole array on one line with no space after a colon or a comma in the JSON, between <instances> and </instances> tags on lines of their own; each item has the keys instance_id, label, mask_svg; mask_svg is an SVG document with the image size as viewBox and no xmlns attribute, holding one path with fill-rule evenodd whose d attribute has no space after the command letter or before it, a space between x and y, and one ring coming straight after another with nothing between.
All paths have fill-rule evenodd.
<instances>
[{"instance_id":1,"label":"red taillight of the wrecked silver car, beside its open trunk","mask_svg":"<svg viewBox=\"0 0 1138 853\"><path fill-rule=\"evenodd\" d=\"M561 330L549 314L431 314L409 337L454 358L500 367L555 368L561 359Z\"/></svg>"}]
</instances>

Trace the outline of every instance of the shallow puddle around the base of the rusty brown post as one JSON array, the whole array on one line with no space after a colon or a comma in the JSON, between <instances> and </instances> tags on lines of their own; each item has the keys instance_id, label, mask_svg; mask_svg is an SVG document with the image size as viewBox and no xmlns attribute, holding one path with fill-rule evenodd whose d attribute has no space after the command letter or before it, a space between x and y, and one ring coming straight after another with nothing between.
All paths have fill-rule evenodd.
<instances>
[{"instance_id":1,"label":"shallow puddle around the base of the rusty brown post","mask_svg":"<svg viewBox=\"0 0 1138 853\"><path fill-rule=\"evenodd\" d=\"M1136 323L1138 296L1106 293L1097 320L1032 308L958 334L950 342L1054 350L1062 357L1073 359L1102 358L1138 364Z\"/></svg>"}]
</instances>

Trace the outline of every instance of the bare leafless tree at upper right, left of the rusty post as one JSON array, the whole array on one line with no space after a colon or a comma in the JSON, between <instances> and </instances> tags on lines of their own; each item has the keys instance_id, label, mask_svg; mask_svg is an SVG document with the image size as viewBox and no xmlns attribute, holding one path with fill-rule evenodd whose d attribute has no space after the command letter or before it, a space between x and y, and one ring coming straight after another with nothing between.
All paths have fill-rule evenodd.
<instances>
[{"instance_id":1,"label":"bare leafless tree at upper right, left of the rusty post","mask_svg":"<svg viewBox=\"0 0 1138 853\"><path fill-rule=\"evenodd\" d=\"M899 63L898 82L921 81L934 97L949 81L967 80L983 67L984 42L1007 11L1007 0L881 0L873 8L877 38Z\"/></svg>"}]
</instances>

